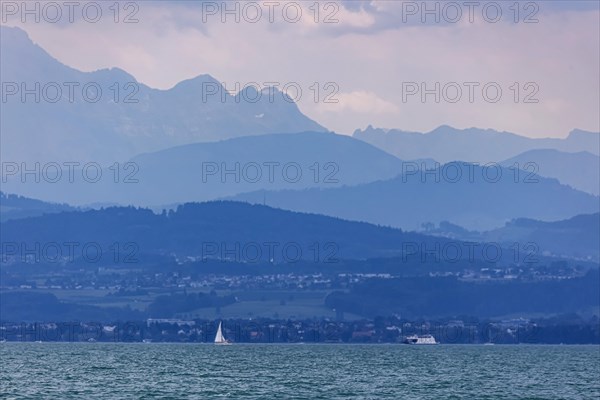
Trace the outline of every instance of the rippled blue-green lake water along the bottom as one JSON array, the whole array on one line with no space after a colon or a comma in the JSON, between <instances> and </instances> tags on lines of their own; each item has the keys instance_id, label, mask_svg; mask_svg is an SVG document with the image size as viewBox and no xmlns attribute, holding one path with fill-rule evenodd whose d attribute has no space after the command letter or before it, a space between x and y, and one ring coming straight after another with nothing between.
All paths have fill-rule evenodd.
<instances>
[{"instance_id":1,"label":"rippled blue-green lake water along the bottom","mask_svg":"<svg viewBox=\"0 0 600 400\"><path fill-rule=\"evenodd\" d=\"M2 343L9 399L598 399L599 346Z\"/></svg>"}]
</instances>

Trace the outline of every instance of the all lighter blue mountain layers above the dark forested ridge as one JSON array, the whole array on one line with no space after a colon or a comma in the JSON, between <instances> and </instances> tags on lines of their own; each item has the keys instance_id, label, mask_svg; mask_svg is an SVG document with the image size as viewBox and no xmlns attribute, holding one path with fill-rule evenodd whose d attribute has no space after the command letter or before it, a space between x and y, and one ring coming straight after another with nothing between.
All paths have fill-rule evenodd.
<instances>
[{"instance_id":1,"label":"all lighter blue mountain layers above the dark forested ridge","mask_svg":"<svg viewBox=\"0 0 600 400\"><path fill-rule=\"evenodd\" d=\"M441 126L422 134L369 126L353 137L336 135L279 92L270 96L249 88L233 96L209 75L156 90L117 68L70 68L23 30L0 30L7 97L0 158L29 171L45 171L49 163L63 167L55 182L24 177L23 171L5 176L3 164L5 193L70 206L155 209L234 199L411 230L450 221L488 231L516 218L555 221L599 209L598 133L574 130L565 139L531 139L490 129ZM56 102L48 101L57 90L53 82L62 90ZM73 99L68 82L77 84ZM15 94L7 83L14 84ZM41 101L36 93L22 94L36 83ZM219 95L207 96L207 85ZM259 101L247 100L256 95ZM90 96L99 100L91 102ZM464 173L473 168L477 179L469 182L463 175L450 182L443 175L454 164L437 162L454 160L501 163L502 179L481 179L497 168L463 165L459 168ZM97 181L82 179L80 167L64 169L65 162L88 161L103 168ZM415 166L434 170L419 172ZM74 182L67 178L70 172ZM69 209L33 203L19 208L14 199L0 200L3 219Z\"/></svg>"}]
</instances>

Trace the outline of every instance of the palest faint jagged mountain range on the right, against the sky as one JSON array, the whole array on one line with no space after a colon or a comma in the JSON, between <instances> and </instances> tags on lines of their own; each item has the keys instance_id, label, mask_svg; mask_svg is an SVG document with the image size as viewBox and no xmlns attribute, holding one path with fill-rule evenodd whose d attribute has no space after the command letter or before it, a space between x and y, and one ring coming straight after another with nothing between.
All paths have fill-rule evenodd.
<instances>
[{"instance_id":1,"label":"palest faint jagged mountain range on the right, against the sky","mask_svg":"<svg viewBox=\"0 0 600 400\"><path fill-rule=\"evenodd\" d=\"M431 132L397 129L357 129L353 137L403 160L431 158L440 163L467 161L501 162L528 150L554 149L564 152L587 151L600 155L600 133L573 130L566 139L532 139L493 129L456 129L443 125Z\"/></svg>"}]
</instances>

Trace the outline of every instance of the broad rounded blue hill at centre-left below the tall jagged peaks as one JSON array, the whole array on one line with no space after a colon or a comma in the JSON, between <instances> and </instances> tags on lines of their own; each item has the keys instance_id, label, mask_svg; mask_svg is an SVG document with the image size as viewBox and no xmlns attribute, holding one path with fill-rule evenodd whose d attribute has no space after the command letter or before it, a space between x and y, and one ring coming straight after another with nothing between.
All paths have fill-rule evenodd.
<instances>
[{"instance_id":1,"label":"broad rounded blue hill at centre-left below the tall jagged peaks","mask_svg":"<svg viewBox=\"0 0 600 400\"><path fill-rule=\"evenodd\" d=\"M62 179L11 176L7 192L72 205L160 206L214 200L256 190L352 186L391 179L402 161L360 140L322 132L273 134L195 143L134 157L91 183L81 170ZM95 176L91 171L90 175ZM86 175L87 177L87 175ZM116 179L115 179L116 178Z\"/></svg>"}]
</instances>

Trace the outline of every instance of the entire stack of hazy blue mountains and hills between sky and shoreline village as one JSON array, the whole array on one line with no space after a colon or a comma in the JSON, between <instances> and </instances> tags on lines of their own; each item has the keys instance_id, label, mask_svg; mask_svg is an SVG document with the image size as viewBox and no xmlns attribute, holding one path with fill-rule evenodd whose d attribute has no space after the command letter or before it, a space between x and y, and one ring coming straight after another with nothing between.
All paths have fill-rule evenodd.
<instances>
[{"instance_id":1,"label":"entire stack of hazy blue mountains and hills between sky and shoreline village","mask_svg":"<svg viewBox=\"0 0 600 400\"><path fill-rule=\"evenodd\" d=\"M276 89L227 91L207 74L221 70L159 90L118 67L71 68L20 28L0 33L0 294L15 321L46 318L45 302L82 319L597 310L600 133L342 135ZM72 242L110 257L30 257ZM273 243L303 255L272 256ZM532 244L535 262L512 252ZM504 254L440 250L470 245ZM479 304L488 289L500 301ZM294 296L309 300L286 310ZM192 297L202 305L180 307Z\"/></svg>"}]
</instances>

